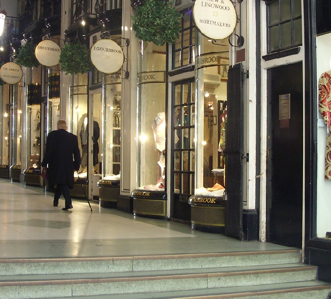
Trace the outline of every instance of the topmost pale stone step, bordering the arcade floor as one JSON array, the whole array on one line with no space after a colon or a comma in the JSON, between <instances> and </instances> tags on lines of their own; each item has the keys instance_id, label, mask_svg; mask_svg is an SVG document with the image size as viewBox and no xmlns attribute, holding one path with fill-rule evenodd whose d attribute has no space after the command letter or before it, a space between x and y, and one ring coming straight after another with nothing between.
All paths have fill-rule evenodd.
<instances>
[{"instance_id":1,"label":"topmost pale stone step, bordering the arcade floor","mask_svg":"<svg viewBox=\"0 0 331 299\"><path fill-rule=\"evenodd\" d=\"M299 263L300 250L104 258L0 259L0 276L109 273Z\"/></svg>"}]
</instances>

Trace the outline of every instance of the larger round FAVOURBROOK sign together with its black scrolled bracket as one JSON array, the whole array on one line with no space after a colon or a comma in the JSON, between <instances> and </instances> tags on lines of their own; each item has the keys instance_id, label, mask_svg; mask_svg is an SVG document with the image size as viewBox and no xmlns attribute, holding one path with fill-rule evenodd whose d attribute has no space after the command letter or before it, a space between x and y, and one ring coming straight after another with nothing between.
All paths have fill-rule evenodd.
<instances>
[{"instance_id":1,"label":"larger round FAVOURBROOK sign together with its black scrolled bracket","mask_svg":"<svg viewBox=\"0 0 331 299\"><path fill-rule=\"evenodd\" d=\"M126 56L124 49L119 44L126 47ZM122 37L115 37L114 39L104 38L96 41L91 47L91 61L95 68L105 74L114 74L122 71L124 76L121 79L129 78L128 71L128 46L129 39ZM123 66L126 64L126 70Z\"/></svg>"}]
</instances>

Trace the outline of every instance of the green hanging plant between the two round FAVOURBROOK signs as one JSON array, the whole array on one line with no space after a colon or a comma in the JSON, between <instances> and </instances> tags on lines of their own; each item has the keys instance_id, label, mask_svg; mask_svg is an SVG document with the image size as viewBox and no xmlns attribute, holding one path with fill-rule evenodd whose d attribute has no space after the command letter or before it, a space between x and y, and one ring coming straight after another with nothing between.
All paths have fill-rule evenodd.
<instances>
[{"instance_id":1,"label":"green hanging plant between the two round FAVOURBROOK signs","mask_svg":"<svg viewBox=\"0 0 331 299\"><path fill-rule=\"evenodd\" d=\"M89 50L80 42L66 43L60 54L61 71L67 74L84 74L93 70Z\"/></svg>"}]
</instances>

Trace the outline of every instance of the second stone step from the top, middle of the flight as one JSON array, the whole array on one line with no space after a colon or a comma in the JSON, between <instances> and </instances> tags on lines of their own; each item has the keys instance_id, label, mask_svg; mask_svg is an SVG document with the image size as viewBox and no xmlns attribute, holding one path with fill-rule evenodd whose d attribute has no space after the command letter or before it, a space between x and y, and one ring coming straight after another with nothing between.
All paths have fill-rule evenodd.
<instances>
[{"instance_id":1,"label":"second stone step from the top, middle of the flight","mask_svg":"<svg viewBox=\"0 0 331 299\"><path fill-rule=\"evenodd\" d=\"M237 271L203 271L193 274L169 274L145 271L144 276L52 279L38 275L36 279L11 276L0 282L0 298L47 298L56 296L116 295L131 293L209 290L214 288L261 286L290 282L314 281L316 267L293 265L266 269L238 269ZM45 276L45 278L43 278Z\"/></svg>"}]
</instances>

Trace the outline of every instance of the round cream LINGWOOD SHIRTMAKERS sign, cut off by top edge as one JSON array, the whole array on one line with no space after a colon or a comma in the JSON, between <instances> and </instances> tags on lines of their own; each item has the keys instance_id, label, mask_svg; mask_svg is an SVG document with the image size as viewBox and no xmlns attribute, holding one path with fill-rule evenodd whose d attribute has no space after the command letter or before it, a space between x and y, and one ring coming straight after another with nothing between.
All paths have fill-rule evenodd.
<instances>
[{"instance_id":1,"label":"round cream LINGWOOD SHIRTMAKERS sign, cut off by top edge","mask_svg":"<svg viewBox=\"0 0 331 299\"><path fill-rule=\"evenodd\" d=\"M193 18L200 32L212 39L227 38L237 24L237 13L230 0L195 0Z\"/></svg>"}]
</instances>

